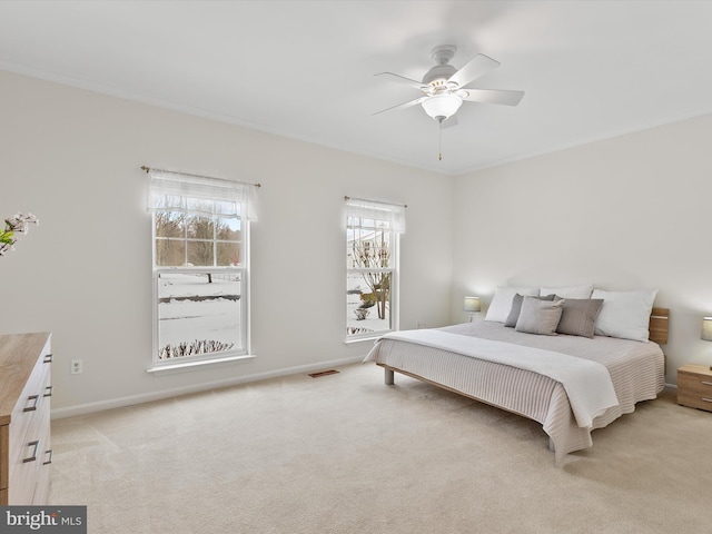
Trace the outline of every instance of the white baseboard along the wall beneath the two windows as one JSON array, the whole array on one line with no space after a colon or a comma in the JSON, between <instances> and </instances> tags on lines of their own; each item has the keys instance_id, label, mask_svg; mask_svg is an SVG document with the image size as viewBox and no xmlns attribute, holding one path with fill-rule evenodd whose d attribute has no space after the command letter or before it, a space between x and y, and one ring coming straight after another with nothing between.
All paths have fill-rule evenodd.
<instances>
[{"instance_id":1,"label":"white baseboard along the wall beneath the two windows","mask_svg":"<svg viewBox=\"0 0 712 534\"><path fill-rule=\"evenodd\" d=\"M269 378L279 378L280 376L298 375L301 373L313 373L316 370L324 370L328 367L337 367L339 365L356 364L364 359L363 356L334 359L330 362L320 362L318 364L298 365L295 367L287 367L283 369L269 370L265 373L257 373L247 376L237 376L227 378L225 380L209 382L202 384L194 384L190 386L162 389L160 392L151 392L140 395L131 395L128 397L110 398L107 400L99 400L97 403L78 404L76 406L68 406L66 408L57 408L51 411L52 419L61 419L65 417L73 417L76 415L92 414L95 412L102 412L105 409L122 408L125 406L132 406L135 404L150 403L151 400L160 400L162 398L178 397L180 395L187 395L190 393L206 392L209 389L217 389L220 387L235 386L238 384L247 384L250 382L266 380Z\"/></svg>"}]
</instances>

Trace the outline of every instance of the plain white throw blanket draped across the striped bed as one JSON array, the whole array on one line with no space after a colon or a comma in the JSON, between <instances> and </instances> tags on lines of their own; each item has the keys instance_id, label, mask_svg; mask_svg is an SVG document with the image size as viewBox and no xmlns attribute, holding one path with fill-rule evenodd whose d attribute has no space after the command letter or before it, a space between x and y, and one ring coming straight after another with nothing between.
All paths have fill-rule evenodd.
<instances>
[{"instance_id":1,"label":"plain white throw blanket draped across the striped bed","mask_svg":"<svg viewBox=\"0 0 712 534\"><path fill-rule=\"evenodd\" d=\"M609 369L590 359L439 329L394 332L383 337L451 350L548 376L563 385L576 424L582 428L591 428L593 419L619 404Z\"/></svg>"}]
</instances>

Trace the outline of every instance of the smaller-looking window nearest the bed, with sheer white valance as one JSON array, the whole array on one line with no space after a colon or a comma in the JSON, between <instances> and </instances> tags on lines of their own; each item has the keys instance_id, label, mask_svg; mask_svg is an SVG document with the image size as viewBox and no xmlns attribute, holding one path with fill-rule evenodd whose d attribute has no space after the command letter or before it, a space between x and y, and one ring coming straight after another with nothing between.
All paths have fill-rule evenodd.
<instances>
[{"instance_id":1,"label":"smaller-looking window nearest the bed, with sheer white valance","mask_svg":"<svg viewBox=\"0 0 712 534\"><path fill-rule=\"evenodd\" d=\"M396 330L405 206L346 197L346 340Z\"/></svg>"}]
</instances>

